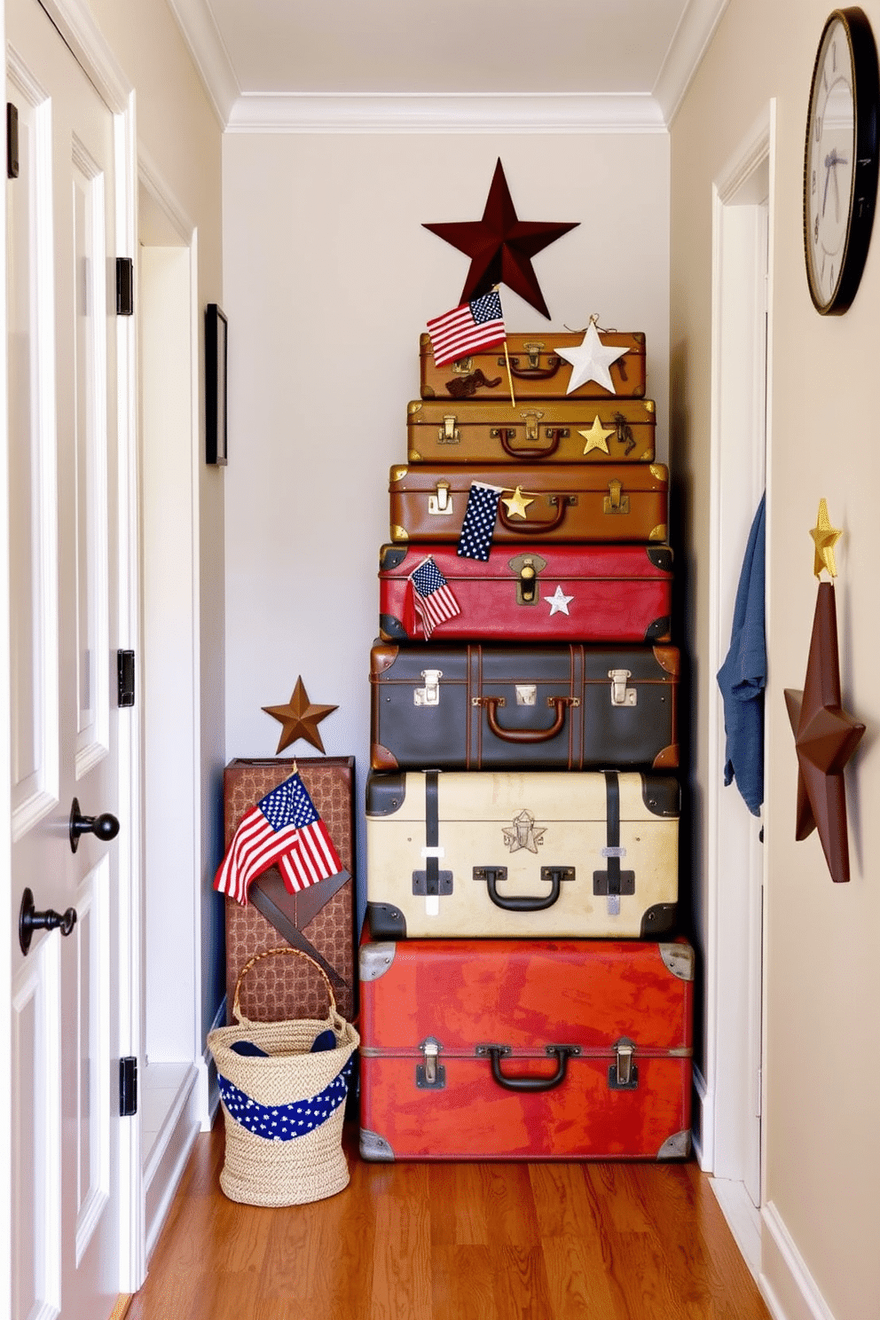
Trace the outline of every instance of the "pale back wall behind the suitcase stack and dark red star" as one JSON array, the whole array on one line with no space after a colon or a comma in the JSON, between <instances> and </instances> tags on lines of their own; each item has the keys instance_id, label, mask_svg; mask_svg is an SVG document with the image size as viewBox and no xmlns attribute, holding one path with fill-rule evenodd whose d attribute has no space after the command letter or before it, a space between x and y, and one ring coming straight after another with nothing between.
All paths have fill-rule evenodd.
<instances>
[{"instance_id":1,"label":"pale back wall behind the suitcase stack and dark red star","mask_svg":"<svg viewBox=\"0 0 880 1320\"><path fill-rule=\"evenodd\" d=\"M388 469L406 457L418 337L455 306L468 268L422 223L479 219L499 156L521 219L581 222L534 259L551 322L503 288L508 329L583 329L595 312L644 330L665 457L666 135L223 145L227 748L274 755L281 726L261 708L302 675L313 702L339 706L319 727L329 754L356 756L359 808Z\"/></svg>"}]
</instances>

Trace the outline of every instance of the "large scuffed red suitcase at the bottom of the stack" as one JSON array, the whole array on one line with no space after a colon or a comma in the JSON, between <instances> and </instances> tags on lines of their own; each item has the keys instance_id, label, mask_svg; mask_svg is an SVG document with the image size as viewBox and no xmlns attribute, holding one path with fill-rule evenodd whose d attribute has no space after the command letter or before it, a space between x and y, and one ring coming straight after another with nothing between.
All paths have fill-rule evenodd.
<instances>
[{"instance_id":1,"label":"large scuffed red suitcase at the bottom of the stack","mask_svg":"<svg viewBox=\"0 0 880 1320\"><path fill-rule=\"evenodd\" d=\"M360 1154L690 1152L694 953L606 940L360 946Z\"/></svg>"}]
</instances>

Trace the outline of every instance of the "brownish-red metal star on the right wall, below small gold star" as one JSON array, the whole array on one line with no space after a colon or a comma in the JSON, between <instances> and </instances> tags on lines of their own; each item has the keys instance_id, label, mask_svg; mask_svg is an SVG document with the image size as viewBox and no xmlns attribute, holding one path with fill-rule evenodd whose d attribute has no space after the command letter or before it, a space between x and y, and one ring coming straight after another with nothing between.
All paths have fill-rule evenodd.
<instances>
[{"instance_id":1,"label":"brownish-red metal star on the right wall, below small gold star","mask_svg":"<svg viewBox=\"0 0 880 1320\"><path fill-rule=\"evenodd\" d=\"M843 767L864 725L840 706L840 664L834 585L819 582L803 692L785 689L797 750L796 840L818 829L831 879L850 879L847 803Z\"/></svg>"}]
</instances>

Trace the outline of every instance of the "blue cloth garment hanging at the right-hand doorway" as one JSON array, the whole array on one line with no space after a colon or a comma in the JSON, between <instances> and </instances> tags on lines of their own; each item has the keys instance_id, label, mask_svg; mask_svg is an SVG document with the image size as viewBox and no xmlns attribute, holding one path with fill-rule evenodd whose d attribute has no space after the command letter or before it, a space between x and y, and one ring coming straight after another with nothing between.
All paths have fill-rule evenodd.
<instances>
[{"instance_id":1,"label":"blue cloth garment hanging at the right-hand doorway","mask_svg":"<svg viewBox=\"0 0 880 1320\"><path fill-rule=\"evenodd\" d=\"M767 686L767 638L764 632L764 506L761 495L743 557L731 644L718 671L724 704L727 735L724 783L736 779L753 816L764 801L764 689Z\"/></svg>"}]
</instances>

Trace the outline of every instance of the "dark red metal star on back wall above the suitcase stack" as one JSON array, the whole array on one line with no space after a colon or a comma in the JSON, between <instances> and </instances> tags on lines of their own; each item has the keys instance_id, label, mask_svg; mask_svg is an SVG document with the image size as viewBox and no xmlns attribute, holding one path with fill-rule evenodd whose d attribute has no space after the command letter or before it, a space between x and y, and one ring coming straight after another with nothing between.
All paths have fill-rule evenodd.
<instances>
[{"instance_id":1,"label":"dark red metal star on back wall above the suitcase stack","mask_svg":"<svg viewBox=\"0 0 880 1320\"><path fill-rule=\"evenodd\" d=\"M549 319L548 305L532 269L532 257L579 223L519 220L499 158L482 220L425 224L425 228L470 256L471 268L462 290L462 302L488 293L496 284L507 284L508 289L513 289Z\"/></svg>"}]
</instances>

